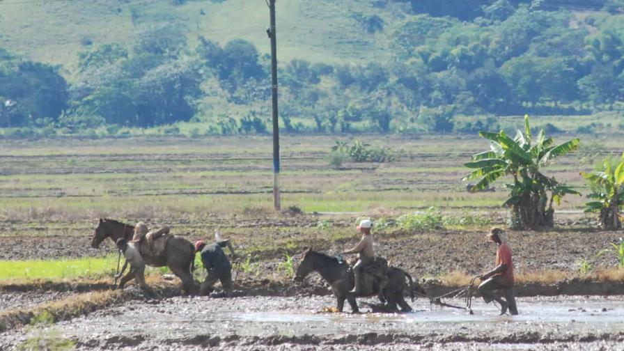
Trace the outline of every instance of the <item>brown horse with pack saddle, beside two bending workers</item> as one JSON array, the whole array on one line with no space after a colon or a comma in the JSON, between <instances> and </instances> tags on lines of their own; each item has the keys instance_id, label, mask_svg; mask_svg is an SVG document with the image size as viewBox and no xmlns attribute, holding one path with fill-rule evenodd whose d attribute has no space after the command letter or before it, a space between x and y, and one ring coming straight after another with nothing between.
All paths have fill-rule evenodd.
<instances>
[{"instance_id":1,"label":"brown horse with pack saddle, beside two bending workers","mask_svg":"<svg viewBox=\"0 0 624 351\"><path fill-rule=\"evenodd\" d=\"M116 242L120 237L131 240L134 234L134 226L124 224L114 219L100 219L100 224L95 228L91 247L97 249L102 241L110 237ZM192 265L195 260L195 248L193 244L183 237L173 236L166 244L162 257L143 257L147 265L153 267L167 266L182 280L182 294L188 295L193 291ZM123 287L124 281L120 284Z\"/></svg>"}]
</instances>

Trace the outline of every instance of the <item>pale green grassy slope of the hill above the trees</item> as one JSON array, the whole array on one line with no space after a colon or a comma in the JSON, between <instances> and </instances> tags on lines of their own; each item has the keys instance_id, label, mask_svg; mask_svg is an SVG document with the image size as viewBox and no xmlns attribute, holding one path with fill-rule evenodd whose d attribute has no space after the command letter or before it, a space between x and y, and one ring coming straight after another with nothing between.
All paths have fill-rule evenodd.
<instances>
[{"instance_id":1,"label":"pale green grassy slope of the hill above the trees","mask_svg":"<svg viewBox=\"0 0 624 351\"><path fill-rule=\"evenodd\" d=\"M171 24L183 28L191 43L198 36L219 44L242 38L259 52L270 51L265 32L269 13L263 0L188 1L178 6L171 0L6 0L0 2L0 10L0 47L33 61L63 65L68 72L86 43L131 47L137 33ZM387 61L387 35L368 34L354 19L368 13L380 10L368 1L279 1L279 59ZM398 20L388 11L380 15L387 23Z\"/></svg>"}]
</instances>

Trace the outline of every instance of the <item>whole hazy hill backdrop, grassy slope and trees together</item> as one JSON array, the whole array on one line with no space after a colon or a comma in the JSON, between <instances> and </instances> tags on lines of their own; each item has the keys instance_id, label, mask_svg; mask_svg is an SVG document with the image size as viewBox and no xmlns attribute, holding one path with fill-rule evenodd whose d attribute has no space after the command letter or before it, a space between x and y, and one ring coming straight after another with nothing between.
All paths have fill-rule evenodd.
<instances>
[{"instance_id":1,"label":"whole hazy hill backdrop, grassy slope and trees together","mask_svg":"<svg viewBox=\"0 0 624 351\"><path fill-rule=\"evenodd\" d=\"M265 1L4 0L0 9L5 135L270 125ZM474 132L499 128L492 116L618 111L623 11L622 0L279 1L281 123Z\"/></svg>"}]
</instances>

